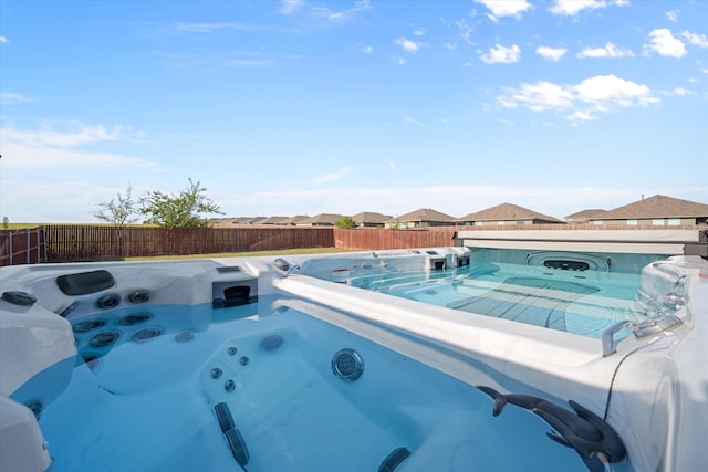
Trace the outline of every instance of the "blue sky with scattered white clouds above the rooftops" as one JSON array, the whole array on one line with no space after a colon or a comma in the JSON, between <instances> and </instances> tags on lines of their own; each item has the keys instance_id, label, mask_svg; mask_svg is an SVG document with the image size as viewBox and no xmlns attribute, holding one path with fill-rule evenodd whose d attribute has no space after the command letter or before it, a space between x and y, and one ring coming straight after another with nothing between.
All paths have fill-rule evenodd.
<instances>
[{"instance_id":1,"label":"blue sky with scattered white clouds above the rooftops","mask_svg":"<svg viewBox=\"0 0 708 472\"><path fill-rule=\"evenodd\" d=\"M0 216L708 202L708 1L0 2Z\"/></svg>"}]
</instances>

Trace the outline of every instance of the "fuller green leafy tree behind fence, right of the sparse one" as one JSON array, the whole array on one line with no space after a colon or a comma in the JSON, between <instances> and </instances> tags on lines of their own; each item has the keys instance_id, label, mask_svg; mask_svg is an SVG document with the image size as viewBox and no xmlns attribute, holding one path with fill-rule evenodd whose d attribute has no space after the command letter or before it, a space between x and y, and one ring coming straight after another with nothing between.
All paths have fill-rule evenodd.
<instances>
[{"instance_id":1,"label":"fuller green leafy tree behind fence, right of the sparse one","mask_svg":"<svg viewBox=\"0 0 708 472\"><path fill-rule=\"evenodd\" d=\"M206 227L204 213L223 214L219 206L204 195L206 190L189 179L189 187L177 196L153 191L140 199L140 212L148 216L148 222L167 229Z\"/></svg>"}]
</instances>

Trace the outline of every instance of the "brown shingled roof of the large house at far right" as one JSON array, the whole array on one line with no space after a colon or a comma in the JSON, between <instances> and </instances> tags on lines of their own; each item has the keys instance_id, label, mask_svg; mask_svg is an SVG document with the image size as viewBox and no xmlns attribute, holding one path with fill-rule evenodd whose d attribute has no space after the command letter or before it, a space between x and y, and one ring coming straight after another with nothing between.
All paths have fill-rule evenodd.
<instances>
[{"instance_id":1,"label":"brown shingled roof of the large house at far right","mask_svg":"<svg viewBox=\"0 0 708 472\"><path fill-rule=\"evenodd\" d=\"M708 217L708 204L655 195L602 214L598 220L626 220L635 218L695 218Z\"/></svg>"}]
</instances>

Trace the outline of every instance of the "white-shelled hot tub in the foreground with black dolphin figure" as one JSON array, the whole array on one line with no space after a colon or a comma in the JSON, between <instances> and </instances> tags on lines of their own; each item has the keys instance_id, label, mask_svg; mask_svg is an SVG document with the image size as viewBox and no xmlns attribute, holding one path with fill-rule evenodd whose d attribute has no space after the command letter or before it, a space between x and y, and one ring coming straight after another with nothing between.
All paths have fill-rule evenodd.
<instances>
[{"instance_id":1,"label":"white-shelled hot tub in the foreground with black dolphin figure","mask_svg":"<svg viewBox=\"0 0 708 472\"><path fill-rule=\"evenodd\" d=\"M466 270L470 255L4 268L3 469L704 463L706 261L645 265L637 301L662 301L660 319L674 323L626 325L626 338L605 329L602 342L332 283L394 268L433 280L440 259Z\"/></svg>"}]
</instances>

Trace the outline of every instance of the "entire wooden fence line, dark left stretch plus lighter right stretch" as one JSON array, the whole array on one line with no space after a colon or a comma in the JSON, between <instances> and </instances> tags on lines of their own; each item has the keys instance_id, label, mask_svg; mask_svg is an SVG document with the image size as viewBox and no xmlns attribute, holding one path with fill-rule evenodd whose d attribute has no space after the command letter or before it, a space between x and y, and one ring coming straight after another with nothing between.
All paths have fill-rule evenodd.
<instances>
[{"instance_id":1,"label":"entire wooden fence line, dark left stretch plus lighter right stretch","mask_svg":"<svg viewBox=\"0 0 708 472\"><path fill-rule=\"evenodd\" d=\"M684 229L694 229L684 228ZM459 230L603 230L652 229L598 227L586 224L534 224L503 227L434 227L383 230L244 227L244 228L163 228L90 224L52 224L31 230L0 231L0 265L38 262L100 261L111 259L217 254L282 249L341 248L362 251L434 248L454 245ZM656 228L654 228L656 229Z\"/></svg>"}]
</instances>

